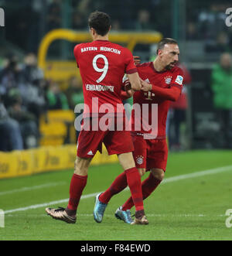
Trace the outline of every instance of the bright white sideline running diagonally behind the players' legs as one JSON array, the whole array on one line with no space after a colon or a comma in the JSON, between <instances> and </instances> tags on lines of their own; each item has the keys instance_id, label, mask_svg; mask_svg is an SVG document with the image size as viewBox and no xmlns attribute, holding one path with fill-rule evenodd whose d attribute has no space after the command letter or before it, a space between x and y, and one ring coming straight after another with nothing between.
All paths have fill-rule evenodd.
<instances>
[{"instance_id":1,"label":"bright white sideline running diagonally behind the players' legs","mask_svg":"<svg viewBox=\"0 0 232 256\"><path fill-rule=\"evenodd\" d=\"M190 179L190 178L196 178L196 177L200 177L200 176L216 174L218 172L227 172L227 171L230 171L231 169L232 169L232 166L224 166L224 167L220 167L220 168L216 168L216 169L207 169L207 170L200 171L200 172L192 172L189 174L166 178L163 180L163 182L161 184L172 183L172 182L183 180L183 179ZM83 199L87 199L90 197L94 197L94 196L97 196L98 193L101 193L101 192L87 194L87 195L81 196L80 199L83 200ZM58 203L67 203L68 200L69 199L57 200L57 201L53 201L53 202L49 202L49 203L35 204L35 205L29 206L29 207L5 210L5 214L15 213L15 212L19 212L19 211L32 210L32 209L38 209L38 208L42 208L42 207L48 207L50 205L54 205L54 204L58 204Z\"/></svg>"}]
</instances>

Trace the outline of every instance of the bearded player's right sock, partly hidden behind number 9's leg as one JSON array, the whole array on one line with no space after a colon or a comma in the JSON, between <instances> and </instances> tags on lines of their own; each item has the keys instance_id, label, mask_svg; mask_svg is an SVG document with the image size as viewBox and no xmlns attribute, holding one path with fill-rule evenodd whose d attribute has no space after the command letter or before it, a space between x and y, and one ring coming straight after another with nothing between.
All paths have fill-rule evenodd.
<instances>
[{"instance_id":1,"label":"bearded player's right sock, partly hidden behind number 9's leg","mask_svg":"<svg viewBox=\"0 0 232 256\"><path fill-rule=\"evenodd\" d=\"M142 198L145 200L151 193L159 186L162 181L160 179L156 179L152 173L142 182ZM134 202L132 197L130 197L125 204L122 206L122 210L130 210L134 206Z\"/></svg>"}]
</instances>

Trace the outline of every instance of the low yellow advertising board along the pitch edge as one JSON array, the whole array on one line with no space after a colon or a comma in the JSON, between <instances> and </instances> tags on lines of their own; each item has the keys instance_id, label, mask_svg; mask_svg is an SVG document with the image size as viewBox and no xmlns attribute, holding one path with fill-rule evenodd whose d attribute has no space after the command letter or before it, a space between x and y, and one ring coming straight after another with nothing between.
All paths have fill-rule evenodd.
<instances>
[{"instance_id":1,"label":"low yellow advertising board along the pitch edge","mask_svg":"<svg viewBox=\"0 0 232 256\"><path fill-rule=\"evenodd\" d=\"M76 145L47 146L24 151L0 152L0 179L29 176L41 172L73 169L77 155ZM118 162L117 155L97 152L91 165Z\"/></svg>"}]
</instances>

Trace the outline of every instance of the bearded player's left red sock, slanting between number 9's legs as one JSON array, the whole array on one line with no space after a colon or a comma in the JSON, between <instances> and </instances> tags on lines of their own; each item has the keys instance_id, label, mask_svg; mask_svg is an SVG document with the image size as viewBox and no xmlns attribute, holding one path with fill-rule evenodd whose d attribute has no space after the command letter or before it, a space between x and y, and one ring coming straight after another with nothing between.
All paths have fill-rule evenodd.
<instances>
[{"instance_id":1,"label":"bearded player's left red sock, slanting between number 9's legs","mask_svg":"<svg viewBox=\"0 0 232 256\"><path fill-rule=\"evenodd\" d=\"M99 196L101 203L108 203L111 197L121 192L128 186L127 176L125 172L122 172L111 184L111 186Z\"/></svg>"}]
</instances>

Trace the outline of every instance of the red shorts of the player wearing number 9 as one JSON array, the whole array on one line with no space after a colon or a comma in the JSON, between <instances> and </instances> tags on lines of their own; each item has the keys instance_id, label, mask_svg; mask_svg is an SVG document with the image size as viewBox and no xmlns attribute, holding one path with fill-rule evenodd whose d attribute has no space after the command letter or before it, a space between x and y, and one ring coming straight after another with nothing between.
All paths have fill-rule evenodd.
<instances>
[{"instance_id":1,"label":"red shorts of the player wearing number 9","mask_svg":"<svg viewBox=\"0 0 232 256\"><path fill-rule=\"evenodd\" d=\"M77 156L93 158L97 150L102 152L102 143L108 155L120 155L133 152L134 145L130 131L80 131L77 142Z\"/></svg>"}]
</instances>

